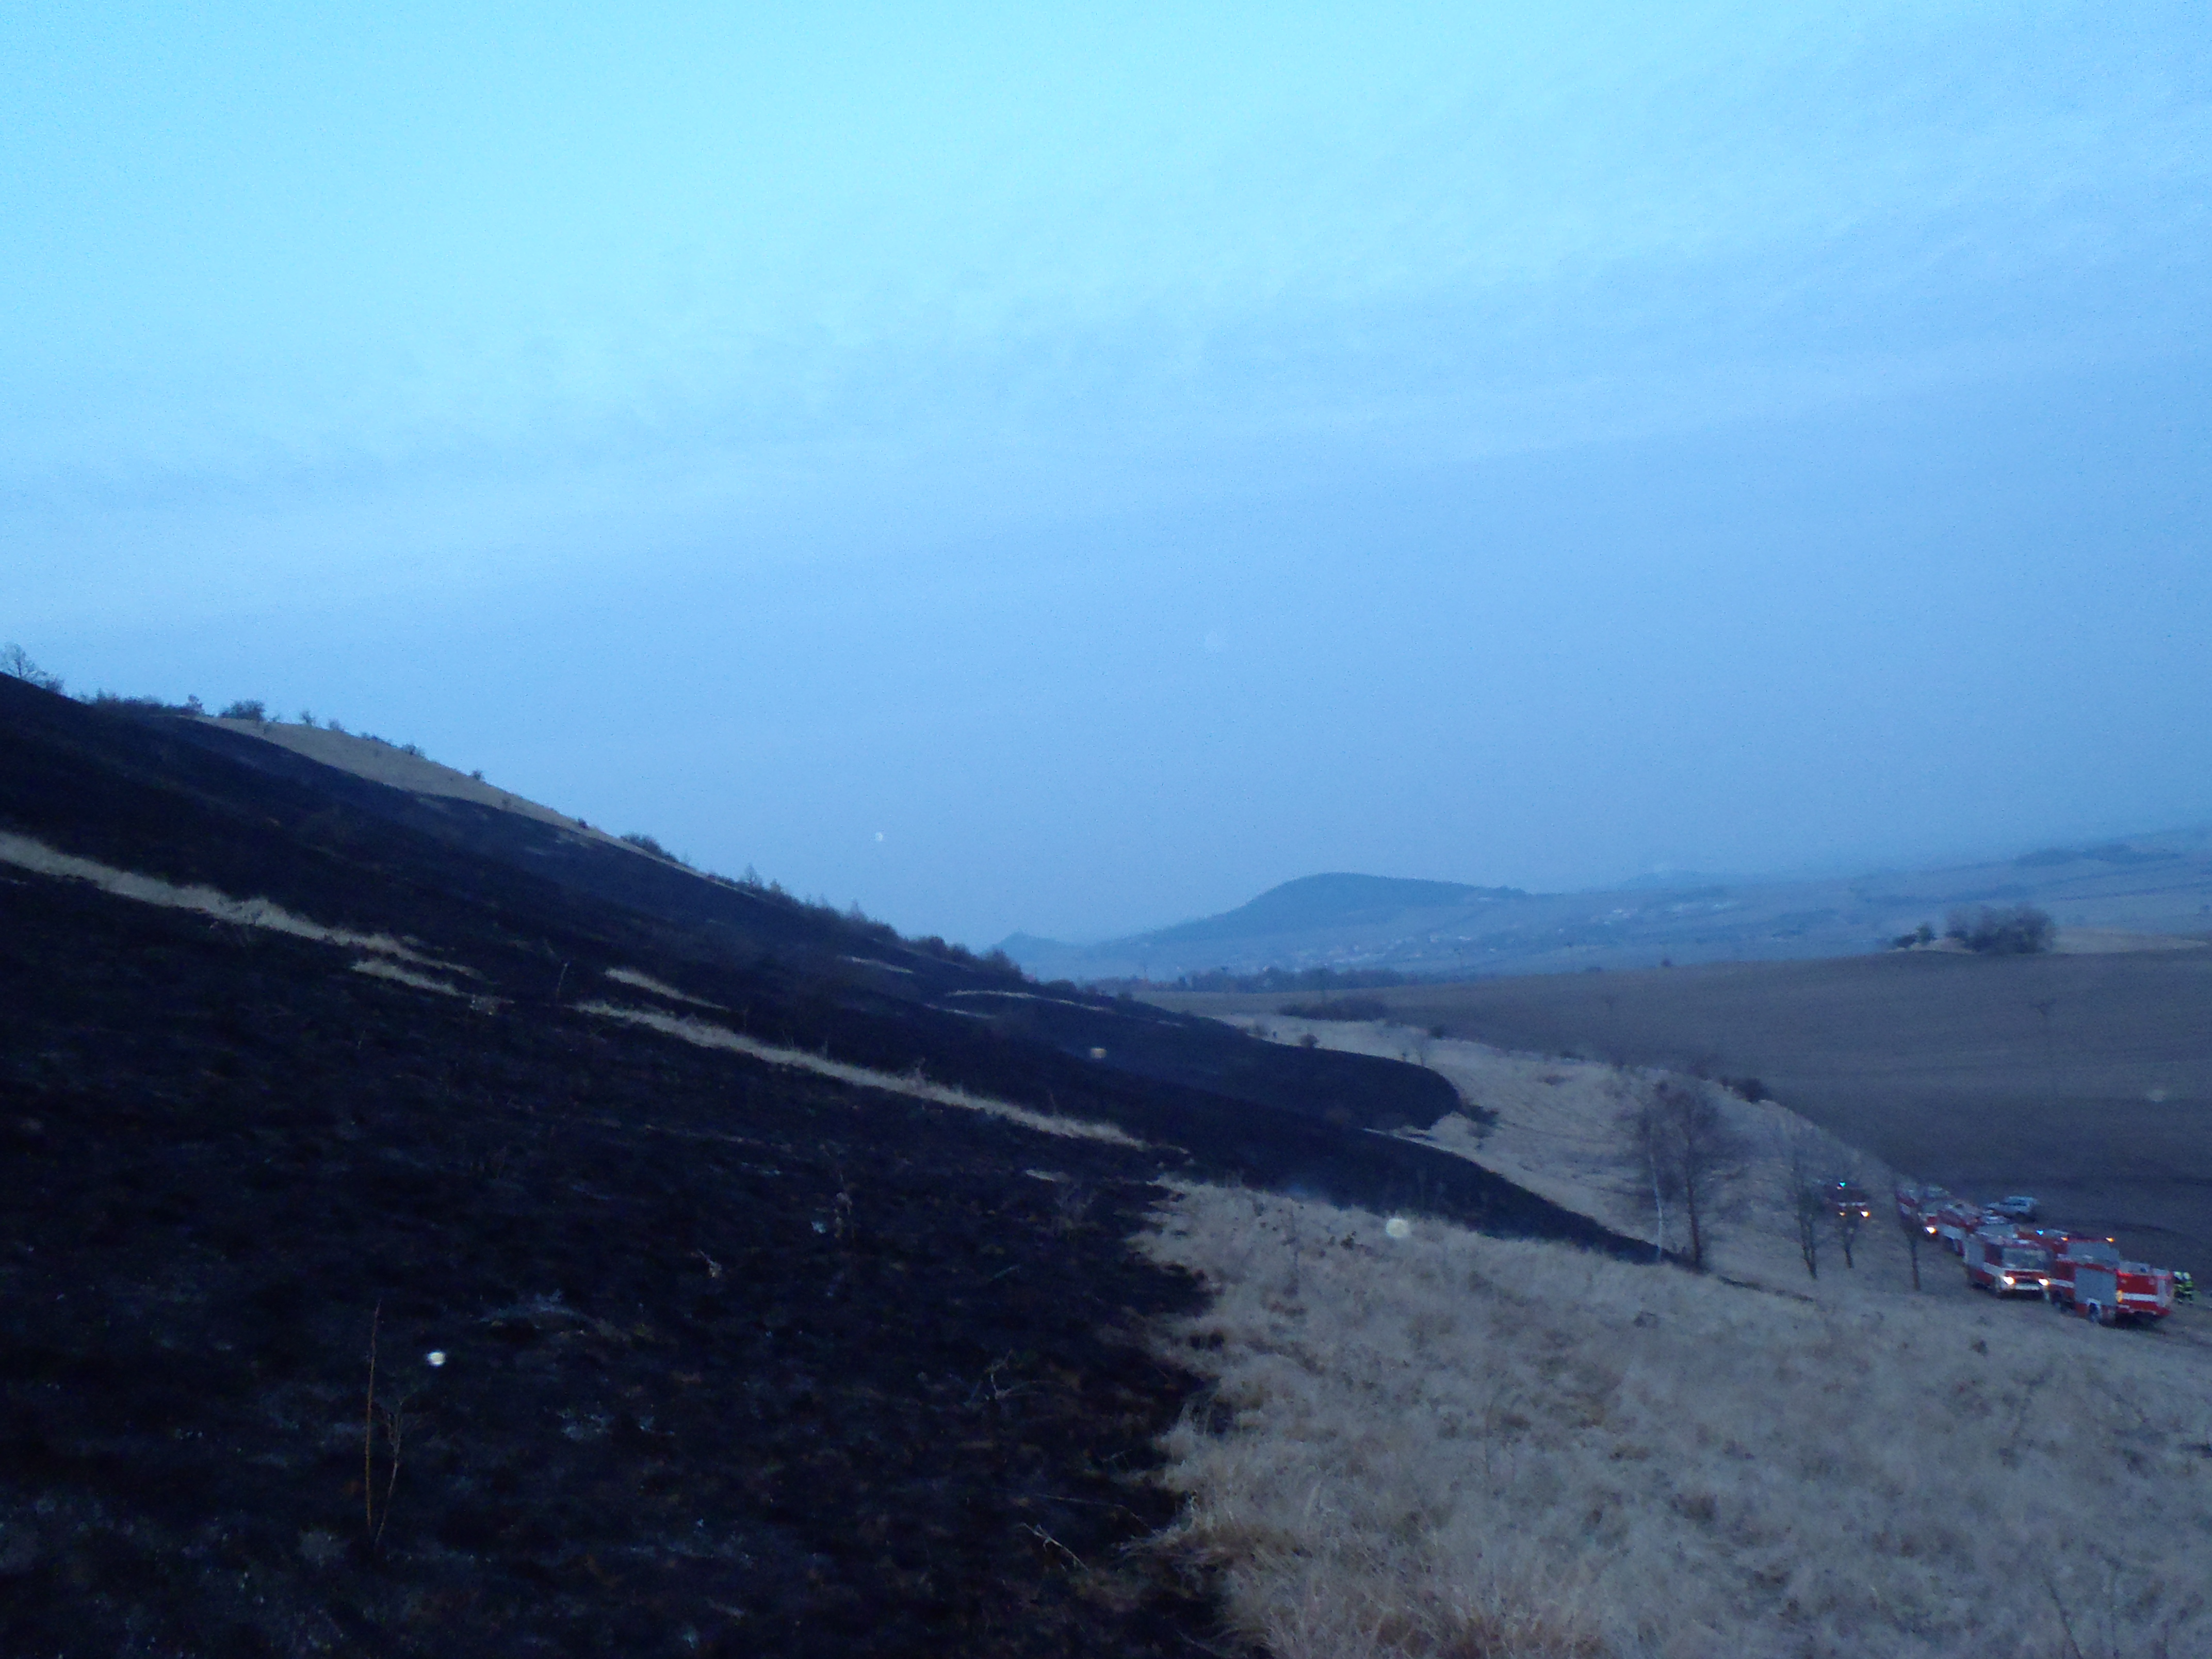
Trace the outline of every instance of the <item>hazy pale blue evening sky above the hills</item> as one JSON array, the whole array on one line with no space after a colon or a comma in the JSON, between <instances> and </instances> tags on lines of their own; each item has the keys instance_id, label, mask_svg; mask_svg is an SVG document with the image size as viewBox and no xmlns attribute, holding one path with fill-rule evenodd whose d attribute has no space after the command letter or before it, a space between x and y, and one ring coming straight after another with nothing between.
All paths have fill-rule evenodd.
<instances>
[{"instance_id":1,"label":"hazy pale blue evening sky above the hills","mask_svg":"<svg viewBox=\"0 0 2212 1659\"><path fill-rule=\"evenodd\" d=\"M2179 0L20 0L0 639L971 945L2205 823L2208 184Z\"/></svg>"}]
</instances>

